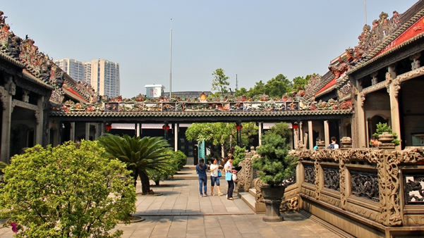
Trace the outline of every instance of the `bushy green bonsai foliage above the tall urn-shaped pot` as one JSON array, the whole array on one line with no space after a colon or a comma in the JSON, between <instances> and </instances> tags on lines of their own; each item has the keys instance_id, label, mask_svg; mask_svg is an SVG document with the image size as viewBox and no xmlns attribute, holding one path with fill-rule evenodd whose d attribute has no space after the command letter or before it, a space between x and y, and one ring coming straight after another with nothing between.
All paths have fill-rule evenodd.
<instances>
[{"instance_id":1,"label":"bushy green bonsai foliage above the tall urn-shaped pot","mask_svg":"<svg viewBox=\"0 0 424 238\"><path fill-rule=\"evenodd\" d=\"M293 175L298 158L289 155L290 145L279 134L264 134L262 145L256 150L260 157L253 159L252 168L258 170L258 177L271 187L278 186Z\"/></svg>"}]
</instances>

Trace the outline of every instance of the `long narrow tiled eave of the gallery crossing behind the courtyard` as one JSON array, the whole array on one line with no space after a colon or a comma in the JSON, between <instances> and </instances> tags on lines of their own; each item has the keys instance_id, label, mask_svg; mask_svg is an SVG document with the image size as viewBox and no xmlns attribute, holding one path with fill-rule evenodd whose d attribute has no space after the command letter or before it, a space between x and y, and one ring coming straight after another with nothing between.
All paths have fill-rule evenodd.
<instances>
[{"instance_id":1,"label":"long narrow tiled eave of the gallery crossing behind the courtyard","mask_svg":"<svg viewBox=\"0 0 424 238\"><path fill-rule=\"evenodd\" d=\"M212 112L150 112L150 111L119 111L119 112L86 112L86 111L52 111L50 115L52 116L65 116L65 117L229 117L229 116L238 116L238 117L251 117L251 116L293 116L293 115L349 115L352 114L352 109L346 110L314 110L314 111L212 111Z\"/></svg>"}]
</instances>

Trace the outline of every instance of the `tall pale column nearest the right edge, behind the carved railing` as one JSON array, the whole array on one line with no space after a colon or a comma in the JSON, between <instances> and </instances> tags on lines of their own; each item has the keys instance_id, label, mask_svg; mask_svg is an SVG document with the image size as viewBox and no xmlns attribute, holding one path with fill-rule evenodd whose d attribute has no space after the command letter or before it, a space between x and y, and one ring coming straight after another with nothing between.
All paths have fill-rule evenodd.
<instances>
[{"instance_id":1,"label":"tall pale column nearest the right edge, behind the carved railing","mask_svg":"<svg viewBox=\"0 0 424 238\"><path fill-rule=\"evenodd\" d=\"M397 77L394 65L388 67L388 72L392 79ZM386 80L389 75L386 75ZM392 120L392 130L398 135L398 139L401 138L401 122L399 120L399 85L395 83L395 80L389 84L389 97L390 97L390 119ZM401 150L401 145L396 146L394 149Z\"/></svg>"}]
</instances>

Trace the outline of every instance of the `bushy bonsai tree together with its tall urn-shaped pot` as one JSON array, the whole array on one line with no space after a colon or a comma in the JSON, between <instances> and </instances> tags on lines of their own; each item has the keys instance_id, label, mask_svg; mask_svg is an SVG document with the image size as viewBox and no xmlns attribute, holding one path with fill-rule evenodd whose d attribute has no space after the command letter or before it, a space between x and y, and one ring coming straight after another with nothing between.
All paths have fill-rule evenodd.
<instances>
[{"instance_id":1,"label":"bushy bonsai tree together with its tall urn-shaped pot","mask_svg":"<svg viewBox=\"0 0 424 238\"><path fill-rule=\"evenodd\" d=\"M267 222L284 220L279 206L286 187L281 184L293 175L298 162L298 158L289 155L289 148L286 138L279 134L264 134L262 145L257 149L260 157L252 162L252 168L258 170L258 177L265 183L260 189L266 206L262 220Z\"/></svg>"}]
</instances>

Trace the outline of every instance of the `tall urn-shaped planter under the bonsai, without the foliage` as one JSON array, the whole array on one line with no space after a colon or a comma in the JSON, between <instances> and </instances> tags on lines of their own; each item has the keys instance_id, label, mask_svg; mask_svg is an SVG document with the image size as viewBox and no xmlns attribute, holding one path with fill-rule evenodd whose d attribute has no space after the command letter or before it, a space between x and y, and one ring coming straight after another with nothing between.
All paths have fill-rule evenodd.
<instances>
[{"instance_id":1,"label":"tall urn-shaped planter under the bonsai, without the foliage","mask_svg":"<svg viewBox=\"0 0 424 238\"><path fill-rule=\"evenodd\" d=\"M281 204L281 198L284 196L286 187L277 186L270 187L269 185L260 186L260 192L265 203L265 216L262 218L265 222L281 222L284 218L279 212L279 206Z\"/></svg>"}]
</instances>

